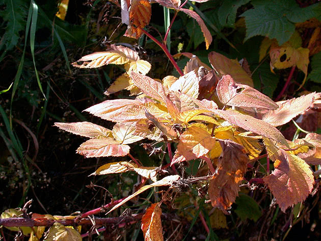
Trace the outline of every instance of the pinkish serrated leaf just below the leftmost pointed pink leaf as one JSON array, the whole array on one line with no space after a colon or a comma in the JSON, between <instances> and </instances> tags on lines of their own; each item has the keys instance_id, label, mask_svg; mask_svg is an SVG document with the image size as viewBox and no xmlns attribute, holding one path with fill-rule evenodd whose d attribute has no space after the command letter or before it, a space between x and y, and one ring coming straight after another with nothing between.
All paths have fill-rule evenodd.
<instances>
[{"instance_id":1,"label":"pinkish serrated leaf just below the leftmost pointed pink leaf","mask_svg":"<svg viewBox=\"0 0 321 241\"><path fill-rule=\"evenodd\" d=\"M130 147L113 138L89 139L82 143L77 153L85 157L126 156Z\"/></svg>"}]
</instances>

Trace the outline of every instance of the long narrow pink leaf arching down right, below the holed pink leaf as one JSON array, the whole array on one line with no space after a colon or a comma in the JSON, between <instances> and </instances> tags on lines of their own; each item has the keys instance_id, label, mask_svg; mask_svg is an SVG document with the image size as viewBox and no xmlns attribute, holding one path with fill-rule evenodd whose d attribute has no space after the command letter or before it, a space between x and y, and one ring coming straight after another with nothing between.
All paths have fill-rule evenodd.
<instances>
[{"instance_id":1,"label":"long narrow pink leaf arching down right, below the holed pink leaf","mask_svg":"<svg viewBox=\"0 0 321 241\"><path fill-rule=\"evenodd\" d=\"M247 131L252 131L258 135L271 138L285 144L285 146L288 147L288 144L282 133L269 123L233 110L214 110L213 112L228 121L230 124L236 125Z\"/></svg>"}]
</instances>

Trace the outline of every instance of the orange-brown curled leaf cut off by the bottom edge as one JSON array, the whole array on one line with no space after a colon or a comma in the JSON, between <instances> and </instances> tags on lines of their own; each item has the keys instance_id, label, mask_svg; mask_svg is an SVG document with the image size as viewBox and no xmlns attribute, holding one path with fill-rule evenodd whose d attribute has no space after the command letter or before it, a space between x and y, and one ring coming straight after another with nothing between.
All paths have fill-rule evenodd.
<instances>
[{"instance_id":1,"label":"orange-brown curled leaf cut off by the bottom edge","mask_svg":"<svg viewBox=\"0 0 321 241\"><path fill-rule=\"evenodd\" d=\"M142 217L142 230L145 241L163 241L162 209L159 203L152 204Z\"/></svg>"}]
</instances>

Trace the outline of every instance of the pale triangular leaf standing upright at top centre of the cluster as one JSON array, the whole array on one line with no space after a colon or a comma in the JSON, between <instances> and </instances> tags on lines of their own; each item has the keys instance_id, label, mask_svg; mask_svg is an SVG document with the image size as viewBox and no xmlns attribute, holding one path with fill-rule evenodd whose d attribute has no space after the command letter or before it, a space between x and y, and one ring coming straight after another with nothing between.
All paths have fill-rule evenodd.
<instances>
[{"instance_id":1,"label":"pale triangular leaf standing upright at top centre of the cluster","mask_svg":"<svg viewBox=\"0 0 321 241\"><path fill-rule=\"evenodd\" d=\"M196 74L196 71L193 70L188 74L185 74L178 78L170 87L171 91L177 91L183 94L188 95L192 98L198 97L198 89L199 89L199 79Z\"/></svg>"}]
</instances>

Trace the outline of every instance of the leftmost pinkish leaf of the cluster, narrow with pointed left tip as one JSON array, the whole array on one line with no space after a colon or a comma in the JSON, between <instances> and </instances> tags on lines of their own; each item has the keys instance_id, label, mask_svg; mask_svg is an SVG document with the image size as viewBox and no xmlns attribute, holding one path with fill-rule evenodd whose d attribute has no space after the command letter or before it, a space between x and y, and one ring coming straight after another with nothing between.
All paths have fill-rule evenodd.
<instances>
[{"instance_id":1,"label":"leftmost pinkish leaf of the cluster, narrow with pointed left tip","mask_svg":"<svg viewBox=\"0 0 321 241\"><path fill-rule=\"evenodd\" d=\"M91 122L55 123L62 130L89 138L113 137L112 131Z\"/></svg>"}]
</instances>

